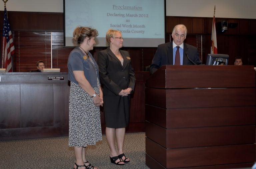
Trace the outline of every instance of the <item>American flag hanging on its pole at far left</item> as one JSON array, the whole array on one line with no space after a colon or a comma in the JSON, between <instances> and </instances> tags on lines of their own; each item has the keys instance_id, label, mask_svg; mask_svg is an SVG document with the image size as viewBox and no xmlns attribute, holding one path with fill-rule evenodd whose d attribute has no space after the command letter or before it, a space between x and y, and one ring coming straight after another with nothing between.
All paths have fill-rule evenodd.
<instances>
[{"instance_id":1,"label":"American flag hanging on its pole at far left","mask_svg":"<svg viewBox=\"0 0 256 169\"><path fill-rule=\"evenodd\" d=\"M4 26L2 37L2 68L6 69L6 72L12 72L12 59L11 56L15 53L14 43L12 39L12 32L10 24L7 18L6 7L4 6Z\"/></svg>"}]
</instances>

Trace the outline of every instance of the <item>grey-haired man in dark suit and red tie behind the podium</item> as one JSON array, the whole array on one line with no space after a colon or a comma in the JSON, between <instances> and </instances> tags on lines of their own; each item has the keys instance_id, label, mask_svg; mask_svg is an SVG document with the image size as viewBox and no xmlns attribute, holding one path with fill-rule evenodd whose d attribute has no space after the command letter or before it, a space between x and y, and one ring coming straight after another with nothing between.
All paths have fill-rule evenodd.
<instances>
[{"instance_id":1,"label":"grey-haired man in dark suit and red tie behind the podium","mask_svg":"<svg viewBox=\"0 0 256 169\"><path fill-rule=\"evenodd\" d=\"M186 36L187 28L185 25L180 24L174 27L172 31L173 41L158 45L152 64L150 65L150 74L153 74L162 65L201 64L197 48L187 43L183 43ZM175 63L177 49L180 58Z\"/></svg>"}]
</instances>

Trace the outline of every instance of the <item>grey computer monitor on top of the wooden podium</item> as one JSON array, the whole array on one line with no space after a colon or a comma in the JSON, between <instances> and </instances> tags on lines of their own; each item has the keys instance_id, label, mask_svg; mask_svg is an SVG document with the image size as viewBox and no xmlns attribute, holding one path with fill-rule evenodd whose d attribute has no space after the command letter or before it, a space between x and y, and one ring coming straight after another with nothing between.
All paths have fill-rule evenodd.
<instances>
[{"instance_id":1,"label":"grey computer monitor on top of the wooden podium","mask_svg":"<svg viewBox=\"0 0 256 169\"><path fill-rule=\"evenodd\" d=\"M208 54L205 65L228 65L228 58L227 54Z\"/></svg>"}]
</instances>

